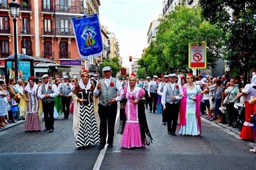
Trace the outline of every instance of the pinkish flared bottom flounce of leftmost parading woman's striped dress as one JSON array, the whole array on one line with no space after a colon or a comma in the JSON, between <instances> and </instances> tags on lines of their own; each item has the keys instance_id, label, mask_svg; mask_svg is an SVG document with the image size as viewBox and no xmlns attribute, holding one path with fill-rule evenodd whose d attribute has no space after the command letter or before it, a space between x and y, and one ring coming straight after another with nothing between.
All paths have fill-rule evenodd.
<instances>
[{"instance_id":1,"label":"pinkish flared bottom flounce of leftmost parading woman's striped dress","mask_svg":"<svg viewBox=\"0 0 256 170\"><path fill-rule=\"evenodd\" d=\"M41 131L41 121L37 113L26 114L25 131Z\"/></svg>"}]
</instances>

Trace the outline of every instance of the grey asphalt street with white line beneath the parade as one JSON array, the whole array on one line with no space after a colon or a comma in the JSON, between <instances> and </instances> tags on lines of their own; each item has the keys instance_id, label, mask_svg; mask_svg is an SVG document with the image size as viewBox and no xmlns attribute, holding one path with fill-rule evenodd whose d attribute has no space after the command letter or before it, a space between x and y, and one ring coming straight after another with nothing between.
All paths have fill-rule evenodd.
<instances>
[{"instance_id":1,"label":"grey asphalt street with white line beneath the parade","mask_svg":"<svg viewBox=\"0 0 256 170\"><path fill-rule=\"evenodd\" d=\"M0 132L0 169L255 169L256 155L248 152L251 142L203 119L202 137L167 134L161 114L149 113L147 121L153 144L142 149L114 147L98 150L98 145L77 150L69 119L55 121L55 131L27 133L24 123ZM44 128L44 121L42 122ZM116 124L116 130L118 121ZM99 154L100 153L100 154ZM99 156L100 155L100 156ZM99 161L103 159L102 162ZM254 167L254 168L253 168Z\"/></svg>"}]
</instances>

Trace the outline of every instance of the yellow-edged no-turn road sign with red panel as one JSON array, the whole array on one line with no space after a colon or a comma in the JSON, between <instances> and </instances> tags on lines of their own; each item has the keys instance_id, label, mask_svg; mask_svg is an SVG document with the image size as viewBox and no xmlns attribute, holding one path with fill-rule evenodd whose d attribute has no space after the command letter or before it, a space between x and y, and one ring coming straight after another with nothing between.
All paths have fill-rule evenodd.
<instances>
[{"instance_id":1,"label":"yellow-edged no-turn road sign with red panel","mask_svg":"<svg viewBox=\"0 0 256 170\"><path fill-rule=\"evenodd\" d=\"M188 44L188 68L206 69L206 43Z\"/></svg>"}]
</instances>

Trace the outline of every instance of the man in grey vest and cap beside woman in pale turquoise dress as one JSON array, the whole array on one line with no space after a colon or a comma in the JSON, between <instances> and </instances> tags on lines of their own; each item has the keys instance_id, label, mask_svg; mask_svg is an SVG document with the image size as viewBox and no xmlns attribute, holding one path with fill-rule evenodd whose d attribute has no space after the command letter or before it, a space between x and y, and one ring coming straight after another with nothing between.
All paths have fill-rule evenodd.
<instances>
[{"instance_id":1,"label":"man in grey vest and cap beside woman in pale turquoise dress","mask_svg":"<svg viewBox=\"0 0 256 170\"><path fill-rule=\"evenodd\" d=\"M176 135L176 128L179 116L180 100L183 98L183 90L180 85L175 83L177 75L169 74L169 84L164 86L161 103L167 117L168 134Z\"/></svg>"}]
</instances>

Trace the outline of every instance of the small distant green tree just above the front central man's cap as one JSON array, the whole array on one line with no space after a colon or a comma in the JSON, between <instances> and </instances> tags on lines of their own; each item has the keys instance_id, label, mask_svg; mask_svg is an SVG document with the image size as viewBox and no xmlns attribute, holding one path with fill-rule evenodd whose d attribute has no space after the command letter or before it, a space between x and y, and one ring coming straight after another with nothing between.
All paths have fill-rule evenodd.
<instances>
[{"instance_id":1,"label":"small distant green tree just above the front central man's cap","mask_svg":"<svg viewBox=\"0 0 256 170\"><path fill-rule=\"evenodd\" d=\"M121 65L119 63L119 57L113 57L112 59L108 58L106 60L103 60L102 64L100 64L100 70L102 70L103 67L105 66L110 66L112 70L112 76L116 77L117 73L121 69Z\"/></svg>"}]
</instances>

